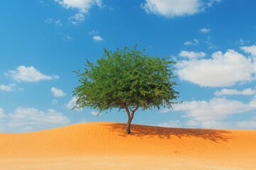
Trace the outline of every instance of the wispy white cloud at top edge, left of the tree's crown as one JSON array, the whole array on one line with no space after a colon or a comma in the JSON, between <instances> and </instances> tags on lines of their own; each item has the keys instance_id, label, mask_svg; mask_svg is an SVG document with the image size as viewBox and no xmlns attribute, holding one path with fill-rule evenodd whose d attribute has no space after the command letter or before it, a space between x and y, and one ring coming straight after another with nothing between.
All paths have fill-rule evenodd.
<instances>
[{"instance_id":1,"label":"wispy white cloud at top edge, left of the tree's crown","mask_svg":"<svg viewBox=\"0 0 256 170\"><path fill-rule=\"evenodd\" d=\"M64 8L77 9L78 13L71 16L69 20L71 23L77 25L85 20L85 13L88 13L92 6L99 6L102 8L102 0L55 0Z\"/></svg>"}]
</instances>

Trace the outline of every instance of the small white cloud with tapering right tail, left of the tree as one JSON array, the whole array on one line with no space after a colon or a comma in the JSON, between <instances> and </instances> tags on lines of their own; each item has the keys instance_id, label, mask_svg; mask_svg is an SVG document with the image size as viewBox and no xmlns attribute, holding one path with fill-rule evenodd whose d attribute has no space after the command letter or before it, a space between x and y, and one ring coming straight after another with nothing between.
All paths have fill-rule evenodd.
<instances>
[{"instance_id":1,"label":"small white cloud with tapering right tail, left of the tree","mask_svg":"<svg viewBox=\"0 0 256 170\"><path fill-rule=\"evenodd\" d=\"M41 80L50 80L50 79L58 79L59 77L56 75L47 76L39 72L34 67L25 67L23 65L16 68L16 70L9 70L6 75L10 76L15 81L28 81L28 82L36 82Z\"/></svg>"}]
</instances>

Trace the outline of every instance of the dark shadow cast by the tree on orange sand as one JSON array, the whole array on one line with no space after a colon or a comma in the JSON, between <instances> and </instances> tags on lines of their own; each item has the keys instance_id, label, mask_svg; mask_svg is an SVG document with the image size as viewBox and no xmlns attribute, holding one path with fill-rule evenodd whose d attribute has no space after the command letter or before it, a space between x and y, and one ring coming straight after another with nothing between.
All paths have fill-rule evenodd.
<instances>
[{"instance_id":1,"label":"dark shadow cast by the tree on orange sand","mask_svg":"<svg viewBox=\"0 0 256 170\"><path fill-rule=\"evenodd\" d=\"M110 132L118 132L120 136L127 137L126 134L126 123L112 123L106 124L107 129ZM134 125L131 126L132 136L149 138L159 137L160 139L171 139L171 137L198 137L204 140L210 140L212 142L228 142L233 140L230 131L227 130L208 130L208 129L190 129L190 128L162 128L157 126L148 125Z\"/></svg>"}]
</instances>

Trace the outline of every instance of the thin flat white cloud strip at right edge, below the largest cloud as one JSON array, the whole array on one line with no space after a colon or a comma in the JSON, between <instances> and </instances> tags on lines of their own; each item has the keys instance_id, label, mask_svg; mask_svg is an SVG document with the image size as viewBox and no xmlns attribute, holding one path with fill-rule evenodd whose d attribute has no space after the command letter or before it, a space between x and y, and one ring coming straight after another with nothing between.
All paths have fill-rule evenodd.
<instances>
[{"instance_id":1,"label":"thin flat white cloud strip at right edge, below the largest cloud","mask_svg":"<svg viewBox=\"0 0 256 170\"><path fill-rule=\"evenodd\" d=\"M250 88L243 89L242 91L238 91L235 89L221 89L220 91L215 91L215 96L225 96L225 95L254 95L256 94L255 90Z\"/></svg>"}]
</instances>

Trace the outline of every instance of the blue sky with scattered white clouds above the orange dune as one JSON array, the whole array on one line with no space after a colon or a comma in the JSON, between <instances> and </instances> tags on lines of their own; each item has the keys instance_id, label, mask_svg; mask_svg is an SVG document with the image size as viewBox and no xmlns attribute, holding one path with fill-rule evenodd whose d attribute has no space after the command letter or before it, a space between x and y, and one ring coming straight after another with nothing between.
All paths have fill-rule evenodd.
<instances>
[{"instance_id":1,"label":"blue sky with scattered white clouds above the orange dune","mask_svg":"<svg viewBox=\"0 0 256 170\"><path fill-rule=\"evenodd\" d=\"M34 0L0 2L0 132L82 122L127 122L123 111L71 111L73 73L103 48L132 47L177 62L173 111L137 111L133 123L256 128L253 0Z\"/></svg>"}]
</instances>

